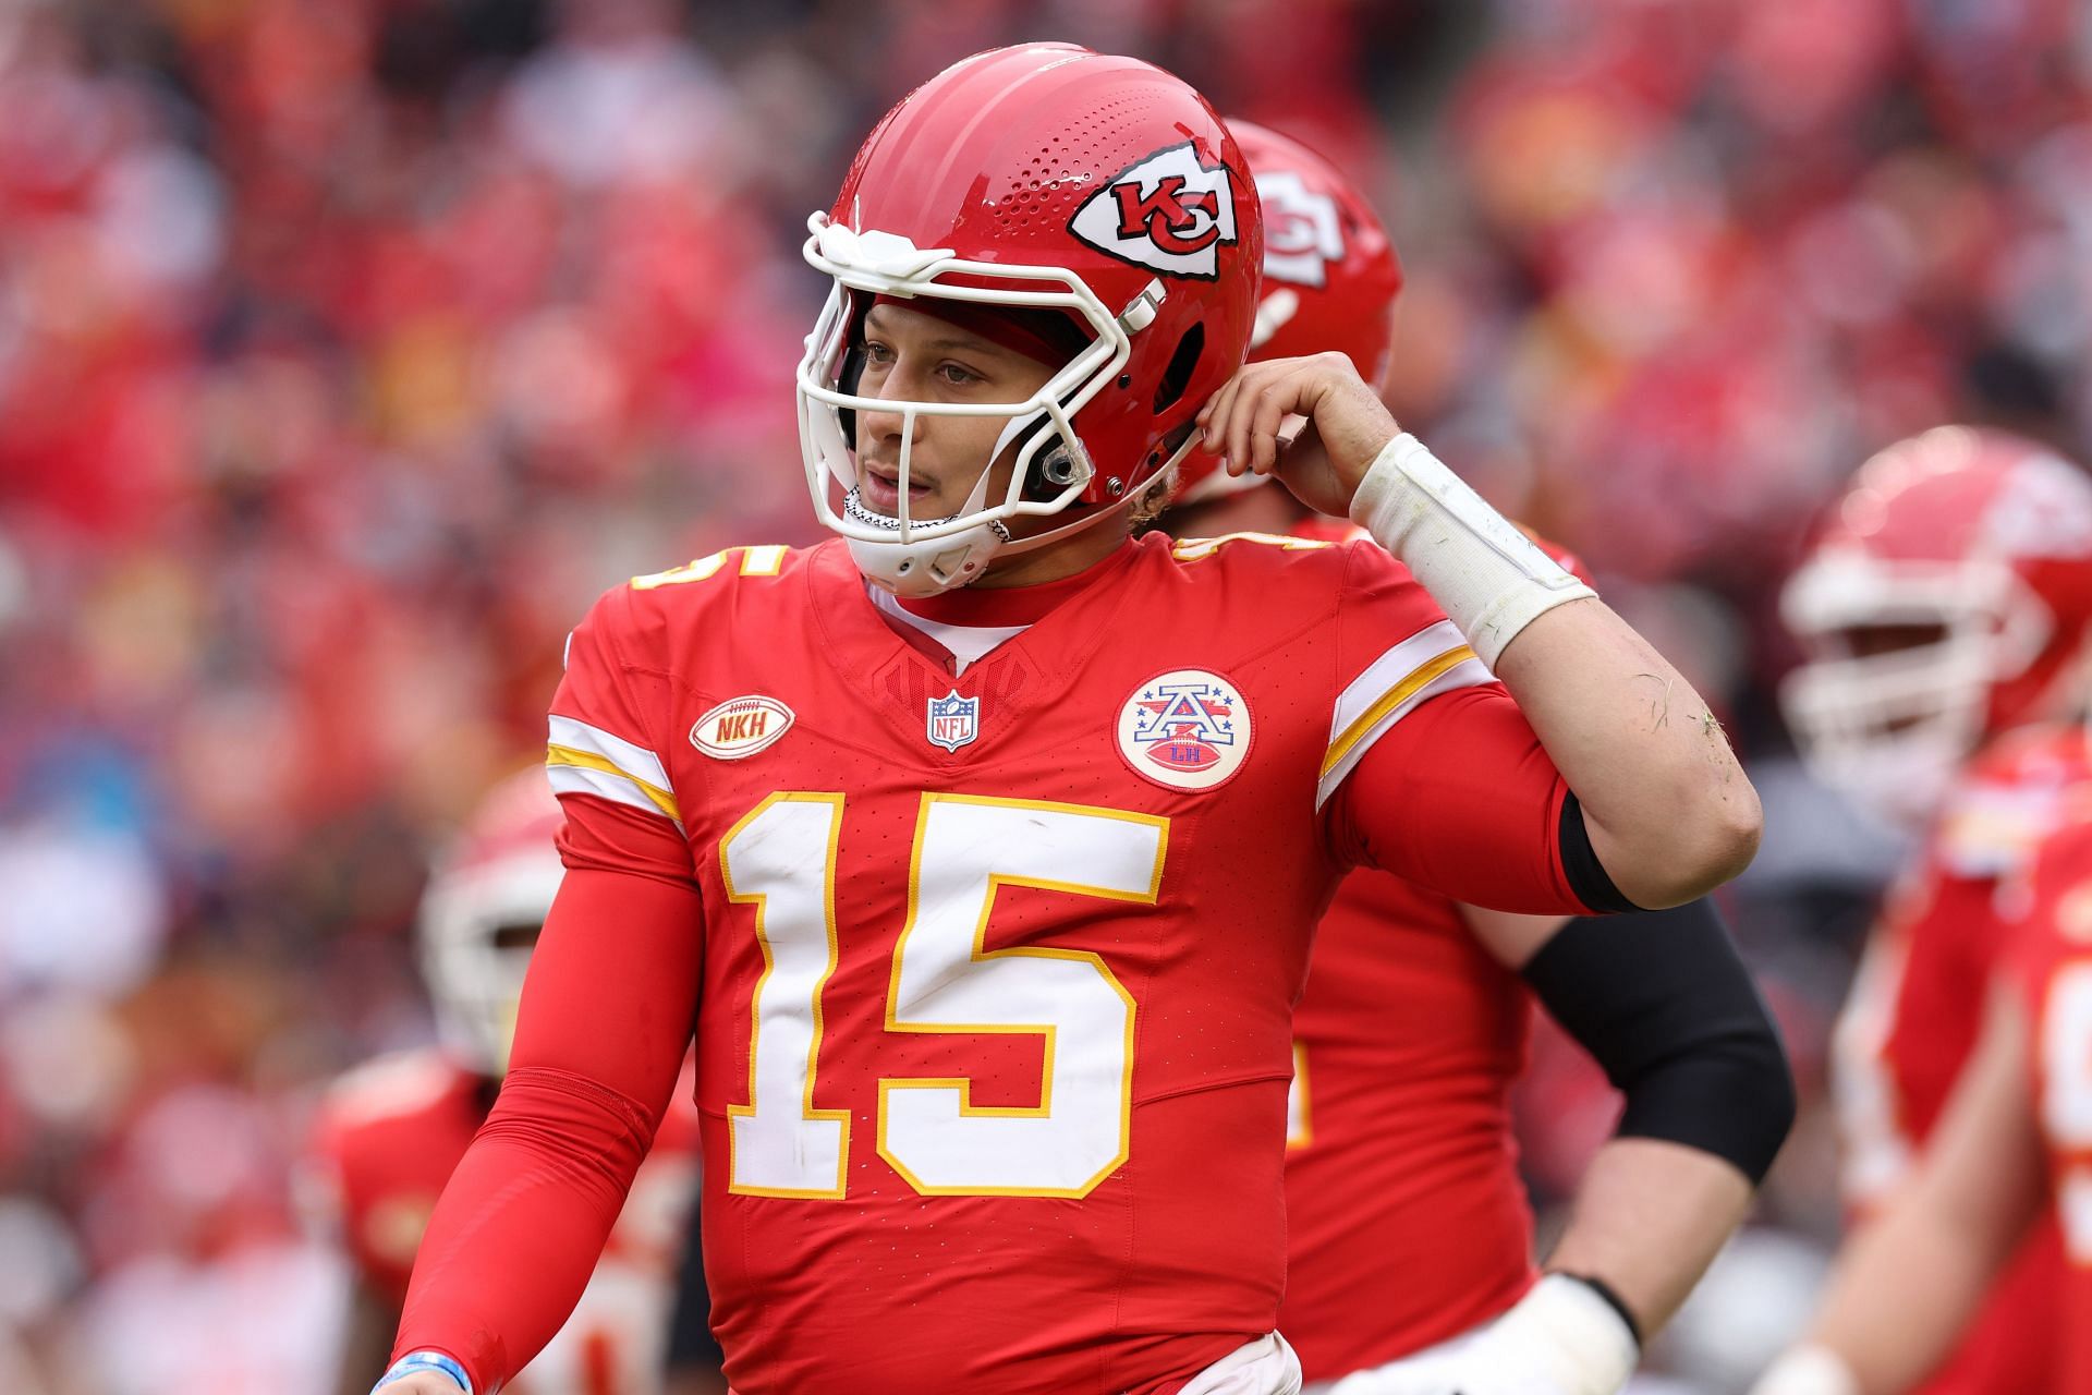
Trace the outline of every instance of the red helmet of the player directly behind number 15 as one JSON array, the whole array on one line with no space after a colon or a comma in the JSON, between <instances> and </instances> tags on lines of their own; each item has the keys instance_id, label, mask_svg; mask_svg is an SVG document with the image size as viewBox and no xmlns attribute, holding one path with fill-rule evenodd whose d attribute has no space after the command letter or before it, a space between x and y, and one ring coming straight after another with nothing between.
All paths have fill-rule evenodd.
<instances>
[{"instance_id":1,"label":"red helmet of the player directly behind number 15","mask_svg":"<svg viewBox=\"0 0 2092 1395\"><path fill-rule=\"evenodd\" d=\"M1372 205L1326 159L1274 130L1228 117L1264 205L1264 299L1249 362L1345 353L1379 387L1395 345L1402 261ZM1178 504L1259 485L1228 475L1218 456L1178 466Z\"/></svg>"}]
</instances>

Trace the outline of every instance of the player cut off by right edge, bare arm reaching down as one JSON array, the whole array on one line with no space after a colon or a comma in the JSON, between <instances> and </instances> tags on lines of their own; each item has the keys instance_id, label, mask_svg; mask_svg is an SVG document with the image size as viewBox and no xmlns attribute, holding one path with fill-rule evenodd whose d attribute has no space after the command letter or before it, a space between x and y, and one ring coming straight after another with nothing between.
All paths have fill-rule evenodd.
<instances>
[{"instance_id":1,"label":"player cut off by right edge, bare arm reaching down","mask_svg":"<svg viewBox=\"0 0 2092 1395\"><path fill-rule=\"evenodd\" d=\"M2025 924L1994 952L1979 1042L1914 1173L1862 1228L1810 1341L1753 1395L1902 1395L1954 1355L2044 1228L2061 1261L2029 1332L2033 1385L2092 1395L2092 818L2084 801L2023 874ZM1975 1389L1975 1387L1971 1387Z\"/></svg>"}]
</instances>

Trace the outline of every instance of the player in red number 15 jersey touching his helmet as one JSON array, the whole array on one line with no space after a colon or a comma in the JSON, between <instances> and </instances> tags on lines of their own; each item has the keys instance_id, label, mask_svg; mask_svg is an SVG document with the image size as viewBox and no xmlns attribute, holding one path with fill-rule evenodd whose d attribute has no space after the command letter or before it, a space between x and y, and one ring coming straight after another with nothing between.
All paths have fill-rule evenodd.
<instances>
[{"instance_id":1,"label":"player in red number 15 jersey touching his helmet","mask_svg":"<svg viewBox=\"0 0 2092 1395\"><path fill-rule=\"evenodd\" d=\"M575 630L567 878L385 1382L487 1391L556 1330L695 1027L743 1395L1291 1393L1291 1006L1333 881L1672 906L1745 866L1755 793L1347 360L1241 368L1257 199L1180 79L975 54L810 232L841 538ZM1201 445L1385 548L1134 542Z\"/></svg>"}]
</instances>

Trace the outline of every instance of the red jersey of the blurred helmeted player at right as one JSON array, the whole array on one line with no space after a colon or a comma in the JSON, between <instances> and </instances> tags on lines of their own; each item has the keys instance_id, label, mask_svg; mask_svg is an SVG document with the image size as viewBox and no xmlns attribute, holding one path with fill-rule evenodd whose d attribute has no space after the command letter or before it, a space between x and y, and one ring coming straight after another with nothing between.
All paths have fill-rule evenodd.
<instances>
[{"instance_id":1,"label":"red jersey of the blurred helmeted player at right","mask_svg":"<svg viewBox=\"0 0 2092 1395\"><path fill-rule=\"evenodd\" d=\"M1845 1196L1881 1205L1910 1171L1975 1046L2013 937L2000 899L2092 791L2082 726L2025 728L1979 755L1889 893L1833 1039ZM2052 1389L2056 1238L2029 1238L1923 1395Z\"/></svg>"}]
</instances>

